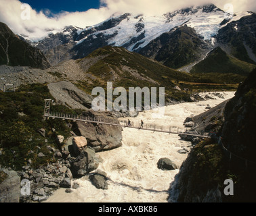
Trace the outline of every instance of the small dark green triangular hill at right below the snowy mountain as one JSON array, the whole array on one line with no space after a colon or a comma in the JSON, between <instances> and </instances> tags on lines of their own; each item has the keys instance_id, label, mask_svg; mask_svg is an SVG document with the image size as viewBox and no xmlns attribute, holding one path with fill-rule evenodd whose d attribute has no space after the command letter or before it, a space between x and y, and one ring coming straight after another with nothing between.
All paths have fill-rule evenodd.
<instances>
[{"instance_id":1,"label":"small dark green triangular hill at right below the snowy mountain","mask_svg":"<svg viewBox=\"0 0 256 216\"><path fill-rule=\"evenodd\" d=\"M207 57L194 65L191 73L221 73L221 74L238 74L248 76L256 68L256 65L240 61L225 53L220 47L211 51Z\"/></svg>"}]
</instances>

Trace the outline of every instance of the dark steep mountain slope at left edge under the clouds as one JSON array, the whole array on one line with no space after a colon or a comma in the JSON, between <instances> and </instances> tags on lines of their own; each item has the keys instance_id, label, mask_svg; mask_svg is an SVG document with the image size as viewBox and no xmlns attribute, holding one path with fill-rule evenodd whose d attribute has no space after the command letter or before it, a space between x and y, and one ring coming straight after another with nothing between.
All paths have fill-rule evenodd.
<instances>
[{"instance_id":1,"label":"dark steep mountain slope at left edge under the clouds","mask_svg":"<svg viewBox=\"0 0 256 216\"><path fill-rule=\"evenodd\" d=\"M20 40L9 27L0 22L0 65L49 68L49 61L43 53Z\"/></svg>"}]
</instances>

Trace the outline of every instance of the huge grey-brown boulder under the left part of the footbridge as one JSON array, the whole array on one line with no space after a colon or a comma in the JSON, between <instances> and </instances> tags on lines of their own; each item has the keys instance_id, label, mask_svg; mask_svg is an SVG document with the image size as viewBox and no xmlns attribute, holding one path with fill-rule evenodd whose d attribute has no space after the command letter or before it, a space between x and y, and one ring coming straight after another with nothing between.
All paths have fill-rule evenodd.
<instances>
[{"instance_id":1,"label":"huge grey-brown boulder under the left part of the footbridge","mask_svg":"<svg viewBox=\"0 0 256 216\"><path fill-rule=\"evenodd\" d=\"M119 124L119 120L116 117L112 117L108 112L85 111L83 115L90 119ZM119 126L76 121L72 125L72 130L77 136L84 136L87 140L87 145L91 146L96 152L110 150L122 145L123 129Z\"/></svg>"}]
</instances>

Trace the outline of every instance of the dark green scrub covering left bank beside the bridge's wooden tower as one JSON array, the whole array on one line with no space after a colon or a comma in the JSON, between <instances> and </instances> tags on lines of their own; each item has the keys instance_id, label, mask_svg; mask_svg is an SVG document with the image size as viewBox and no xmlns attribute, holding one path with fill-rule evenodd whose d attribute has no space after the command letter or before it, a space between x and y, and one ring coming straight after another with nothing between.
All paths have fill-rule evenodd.
<instances>
[{"instance_id":1,"label":"dark green scrub covering left bank beside the bridge's wooden tower","mask_svg":"<svg viewBox=\"0 0 256 216\"><path fill-rule=\"evenodd\" d=\"M70 129L60 119L43 120L44 99L52 99L47 85L20 86L16 92L0 92L0 164L20 169L30 160L33 167L54 161L47 146L58 148L57 135L69 136ZM51 111L74 113L63 105ZM39 129L45 129L45 136ZM55 130L54 130L55 129ZM38 157L43 153L45 157Z\"/></svg>"}]
</instances>

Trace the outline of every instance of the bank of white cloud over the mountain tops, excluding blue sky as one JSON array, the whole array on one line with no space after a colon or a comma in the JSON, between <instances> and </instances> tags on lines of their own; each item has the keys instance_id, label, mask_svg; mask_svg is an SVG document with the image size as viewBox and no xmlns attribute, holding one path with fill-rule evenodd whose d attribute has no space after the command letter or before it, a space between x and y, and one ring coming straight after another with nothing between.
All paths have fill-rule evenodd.
<instances>
[{"instance_id":1,"label":"bank of white cloud over the mountain tops, excluding blue sky","mask_svg":"<svg viewBox=\"0 0 256 216\"><path fill-rule=\"evenodd\" d=\"M157 15L168 11L181 9L192 5L214 3L223 9L226 3L234 5L234 11L256 11L255 0L101 0L100 9L89 9L84 12L62 12L52 16L51 11L37 12L30 8L30 19L21 18L22 3L18 0L0 0L0 21L7 24L15 33L24 34L30 37L39 38L47 34L47 30L64 28L74 25L81 28L98 24L109 18L112 14L130 12L133 14ZM51 18L45 13L51 14Z\"/></svg>"}]
</instances>

